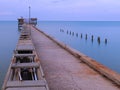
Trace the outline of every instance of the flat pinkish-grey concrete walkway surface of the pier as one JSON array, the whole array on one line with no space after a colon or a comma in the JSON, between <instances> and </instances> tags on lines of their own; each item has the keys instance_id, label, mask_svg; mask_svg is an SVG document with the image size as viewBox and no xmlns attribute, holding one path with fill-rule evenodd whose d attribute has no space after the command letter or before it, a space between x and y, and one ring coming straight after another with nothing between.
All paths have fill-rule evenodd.
<instances>
[{"instance_id":1,"label":"flat pinkish-grey concrete walkway surface of the pier","mask_svg":"<svg viewBox=\"0 0 120 90\"><path fill-rule=\"evenodd\" d=\"M31 36L50 90L120 90L37 29Z\"/></svg>"}]
</instances>

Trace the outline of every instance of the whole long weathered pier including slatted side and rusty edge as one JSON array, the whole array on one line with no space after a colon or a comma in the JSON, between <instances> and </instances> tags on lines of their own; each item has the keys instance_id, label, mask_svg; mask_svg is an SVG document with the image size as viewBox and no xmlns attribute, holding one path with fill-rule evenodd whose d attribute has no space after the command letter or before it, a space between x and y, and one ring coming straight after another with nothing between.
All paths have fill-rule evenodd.
<instances>
[{"instance_id":1,"label":"whole long weathered pier including slatted side and rusty edge","mask_svg":"<svg viewBox=\"0 0 120 90\"><path fill-rule=\"evenodd\" d=\"M57 41L33 24L22 24L2 90L119 90L120 76ZM27 73L27 77L26 77Z\"/></svg>"}]
</instances>

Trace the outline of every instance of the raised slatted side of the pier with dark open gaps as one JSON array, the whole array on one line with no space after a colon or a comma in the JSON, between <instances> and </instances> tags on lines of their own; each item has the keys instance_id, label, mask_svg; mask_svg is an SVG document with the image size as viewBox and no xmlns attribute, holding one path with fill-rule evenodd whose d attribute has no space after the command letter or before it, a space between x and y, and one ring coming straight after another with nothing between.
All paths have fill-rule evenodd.
<instances>
[{"instance_id":1,"label":"raised slatted side of the pier with dark open gaps","mask_svg":"<svg viewBox=\"0 0 120 90\"><path fill-rule=\"evenodd\" d=\"M2 90L49 90L33 45L31 29L26 24L22 24Z\"/></svg>"}]
</instances>

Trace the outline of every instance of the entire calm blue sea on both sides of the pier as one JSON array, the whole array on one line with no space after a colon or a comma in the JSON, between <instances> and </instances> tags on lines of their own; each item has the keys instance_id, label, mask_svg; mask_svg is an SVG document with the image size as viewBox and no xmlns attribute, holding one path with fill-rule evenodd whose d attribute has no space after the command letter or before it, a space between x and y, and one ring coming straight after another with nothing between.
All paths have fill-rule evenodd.
<instances>
[{"instance_id":1,"label":"entire calm blue sea on both sides of the pier","mask_svg":"<svg viewBox=\"0 0 120 90\"><path fill-rule=\"evenodd\" d=\"M120 22L41 21L37 27L120 73ZM100 43L97 41L98 36ZM0 21L0 88L18 37L17 22ZM104 42L105 38L107 44Z\"/></svg>"}]
</instances>

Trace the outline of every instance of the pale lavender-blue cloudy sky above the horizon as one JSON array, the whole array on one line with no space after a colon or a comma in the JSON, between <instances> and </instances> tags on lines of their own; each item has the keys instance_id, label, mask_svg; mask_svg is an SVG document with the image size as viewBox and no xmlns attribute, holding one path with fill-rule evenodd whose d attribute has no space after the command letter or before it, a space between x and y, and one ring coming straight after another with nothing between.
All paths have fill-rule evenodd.
<instances>
[{"instance_id":1,"label":"pale lavender-blue cloudy sky above the horizon","mask_svg":"<svg viewBox=\"0 0 120 90\"><path fill-rule=\"evenodd\" d=\"M120 0L0 0L0 21L120 21Z\"/></svg>"}]
</instances>

